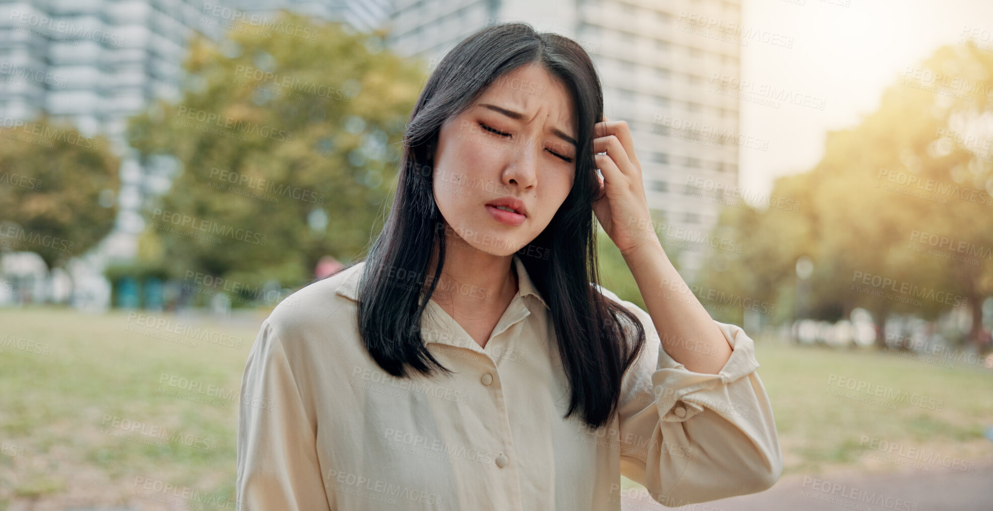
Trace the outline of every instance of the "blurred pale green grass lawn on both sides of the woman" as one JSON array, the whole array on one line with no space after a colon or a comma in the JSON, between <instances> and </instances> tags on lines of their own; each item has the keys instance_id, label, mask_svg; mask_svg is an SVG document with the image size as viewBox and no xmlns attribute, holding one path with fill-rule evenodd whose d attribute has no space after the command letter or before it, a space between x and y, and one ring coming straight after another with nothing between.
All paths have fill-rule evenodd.
<instances>
[{"instance_id":1,"label":"blurred pale green grass lawn on both sides of the woman","mask_svg":"<svg viewBox=\"0 0 993 511\"><path fill-rule=\"evenodd\" d=\"M22 500L55 509L160 509L161 503L133 494L143 481L173 484L176 494L189 488L205 510L233 508L226 499L234 497L236 400L265 315L256 311L236 321L157 315L170 323L142 329L127 312L0 310L0 511ZM183 331L186 325L196 330ZM993 456L993 443L982 434L993 425L993 371L774 339L756 345L786 474L898 468L860 454L863 437L945 459ZM839 378L923 396L941 410L825 393L844 390L829 385ZM200 387L191 390L189 382ZM135 432L121 437L129 428Z\"/></svg>"}]
</instances>

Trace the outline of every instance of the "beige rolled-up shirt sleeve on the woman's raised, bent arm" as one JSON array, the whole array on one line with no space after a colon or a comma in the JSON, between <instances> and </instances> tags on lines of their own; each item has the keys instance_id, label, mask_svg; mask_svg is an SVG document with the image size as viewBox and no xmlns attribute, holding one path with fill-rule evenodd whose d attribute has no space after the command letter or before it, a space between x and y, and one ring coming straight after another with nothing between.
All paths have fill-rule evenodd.
<instances>
[{"instance_id":1,"label":"beige rolled-up shirt sleeve on the woman's raised, bent arm","mask_svg":"<svg viewBox=\"0 0 993 511\"><path fill-rule=\"evenodd\" d=\"M647 312L618 301L638 316L647 342L622 387L621 473L667 507L775 484L782 453L752 339L736 325L714 321L732 347L731 358L718 374L695 373L662 349Z\"/></svg>"}]
</instances>

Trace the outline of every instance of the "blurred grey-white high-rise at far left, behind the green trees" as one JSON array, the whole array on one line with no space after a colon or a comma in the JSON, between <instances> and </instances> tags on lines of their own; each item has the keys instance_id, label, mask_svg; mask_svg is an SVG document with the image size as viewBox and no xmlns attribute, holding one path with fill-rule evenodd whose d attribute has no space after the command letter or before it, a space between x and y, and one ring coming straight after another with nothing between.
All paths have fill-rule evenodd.
<instances>
[{"instance_id":1,"label":"blurred grey-white high-rise at far left, behind the green trees","mask_svg":"<svg viewBox=\"0 0 993 511\"><path fill-rule=\"evenodd\" d=\"M141 205L168 190L173 169L168 159L138 161L127 118L155 98L180 99L194 34L219 42L239 20L274 19L280 9L368 31L389 8L387 0L0 0L0 121L47 113L110 140L122 158L119 215L89 257L96 266L130 258L145 224Z\"/></svg>"}]
</instances>

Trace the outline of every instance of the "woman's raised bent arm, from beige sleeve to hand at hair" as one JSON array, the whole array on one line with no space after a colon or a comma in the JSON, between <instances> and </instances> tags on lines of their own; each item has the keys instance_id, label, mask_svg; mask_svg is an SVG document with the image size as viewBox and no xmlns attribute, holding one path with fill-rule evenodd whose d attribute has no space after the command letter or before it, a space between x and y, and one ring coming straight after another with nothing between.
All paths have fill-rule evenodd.
<instances>
[{"instance_id":1,"label":"woman's raised bent arm, from beige sleeve to hand at hair","mask_svg":"<svg viewBox=\"0 0 993 511\"><path fill-rule=\"evenodd\" d=\"M648 309L624 302L649 349L625 373L621 471L669 507L769 488L782 453L752 339L711 319L662 250L628 123L605 117L594 127L604 154L594 156L603 178L593 211Z\"/></svg>"}]
</instances>

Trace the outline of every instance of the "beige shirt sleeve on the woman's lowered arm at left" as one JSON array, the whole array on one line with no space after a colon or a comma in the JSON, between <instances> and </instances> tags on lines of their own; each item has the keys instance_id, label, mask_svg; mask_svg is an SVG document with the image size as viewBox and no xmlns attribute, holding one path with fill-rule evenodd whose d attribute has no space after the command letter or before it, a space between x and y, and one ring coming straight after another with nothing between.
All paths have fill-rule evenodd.
<instances>
[{"instance_id":1,"label":"beige shirt sleeve on the woman's lowered arm at left","mask_svg":"<svg viewBox=\"0 0 993 511\"><path fill-rule=\"evenodd\" d=\"M313 417L283 342L266 320L241 377L235 481L239 510L330 511Z\"/></svg>"}]
</instances>

